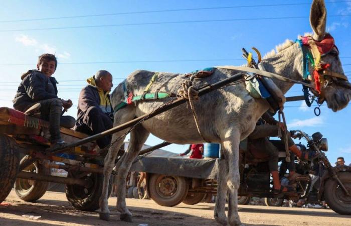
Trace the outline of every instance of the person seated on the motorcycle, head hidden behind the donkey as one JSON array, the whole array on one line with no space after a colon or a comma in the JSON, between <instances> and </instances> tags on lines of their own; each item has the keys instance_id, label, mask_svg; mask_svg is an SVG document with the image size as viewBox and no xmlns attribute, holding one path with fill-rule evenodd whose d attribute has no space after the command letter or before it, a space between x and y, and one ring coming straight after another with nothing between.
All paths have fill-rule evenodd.
<instances>
[{"instance_id":1,"label":"person seated on the motorcycle, head hidden behind the donkey","mask_svg":"<svg viewBox=\"0 0 351 226\"><path fill-rule=\"evenodd\" d=\"M278 121L274 120L274 118L266 112L257 122L255 130L248 136L250 149L263 151L269 157L268 166L273 178L273 192L276 194L292 191L290 187L285 187L280 184L278 172L279 151L268 139L268 137L278 137L278 126L282 132L286 129L283 124L279 124ZM282 137L281 139L284 143L284 138ZM308 161L317 157L317 153L301 152L290 136L288 136L287 142L289 150L301 160ZM295 164L291 162L291 164L289 164L289 181L294 181L298 176L300 175L295 172Z\"/></svg>"}]
</instances>

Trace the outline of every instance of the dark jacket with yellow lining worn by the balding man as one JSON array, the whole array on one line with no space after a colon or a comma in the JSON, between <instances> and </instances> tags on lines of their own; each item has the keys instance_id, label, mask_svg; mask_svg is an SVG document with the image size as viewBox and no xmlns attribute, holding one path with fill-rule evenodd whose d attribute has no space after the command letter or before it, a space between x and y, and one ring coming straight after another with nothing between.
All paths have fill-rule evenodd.
<instances>
[{"instance_id":1,"label":"dark jacket with yellow lining worn by the balding man","mask_svg":"<svg viewBox=\"0 0 351 226\"><path fill-rule=\"evenodd\" d=\"M102 89L96 86L94 77L88 78L87 82L89 84L79 94L76 127L83 124L84 116L90 107L98 108L101 117L113 119L110 94L103 92Z\"/></svg>"}]
</instances>

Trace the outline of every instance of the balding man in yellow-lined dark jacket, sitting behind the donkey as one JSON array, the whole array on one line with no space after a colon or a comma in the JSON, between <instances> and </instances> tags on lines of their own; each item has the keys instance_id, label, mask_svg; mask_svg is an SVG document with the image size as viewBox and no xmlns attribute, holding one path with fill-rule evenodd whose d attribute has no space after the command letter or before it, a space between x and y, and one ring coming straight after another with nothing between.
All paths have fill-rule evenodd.
<instances>
[{"instance_id":1,"label":"balding man in yellow-lined dark jacket, sitting behind the donkey","mask_svg":"<svg viewBox=\"0 0 351 226\"><path fill-rule=\"evenodd\" d=\"M113 109L110 102L110 91L113 86L110 72L100 70L87 79L78 100L78 118L74 130L90 135L98 134L113 126ZM107 147L111 136L97 141L99 148Z\"/></svg>"}]
</instances>

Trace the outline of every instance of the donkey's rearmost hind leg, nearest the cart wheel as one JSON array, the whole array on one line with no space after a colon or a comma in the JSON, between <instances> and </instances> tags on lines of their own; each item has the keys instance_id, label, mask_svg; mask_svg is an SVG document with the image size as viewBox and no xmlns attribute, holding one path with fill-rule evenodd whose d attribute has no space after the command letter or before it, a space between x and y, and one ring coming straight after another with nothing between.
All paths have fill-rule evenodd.
<instances>
[{"instance_id":1,"label":"donkey's rearmost hind leg, nearest the cart wheel","mask_svg":"<svg viewBox=\"0 0 351 226\"><path fill-rule=\"evenodd\" d=\"M134 113L135 113L135 109L131 110L128 107L121 109L120 112L118 112L118 114L115 114L113 126L115 127L117 125L120 125L122 123L132 120L134 118ZM123 144L125 136L123 136L122 139L120 139L120 141L118 142L115 142L115 141L125 132L126 130L120 131L112 135L111 143L113 145L109 148L108 153L105 157L104 170L103 170L104 182L102 184L102 194L99 202L100 219L103 219L103 220L109 220L110 210L108 209L108 187L109 187L108 185L110 182L110 176L111 176L113 167L115 166L116 156L118 154L120 147Z\"/></svg>"}]
</instances>

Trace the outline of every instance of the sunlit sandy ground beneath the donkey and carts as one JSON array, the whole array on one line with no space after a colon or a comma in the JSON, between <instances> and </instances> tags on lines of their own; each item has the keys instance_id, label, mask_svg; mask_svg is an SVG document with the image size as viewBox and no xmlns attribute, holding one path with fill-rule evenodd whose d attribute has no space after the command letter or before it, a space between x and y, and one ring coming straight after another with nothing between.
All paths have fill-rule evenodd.
<instances>
[{"instance_id":1,"label":"sunlit sandy ground beneath the donkey and carts","mask_svg":"<svg viewBox=\"0 0 351 226\"><path fill-rule=\"evenodd\" d=\"M182 203L174 207L163 207L152 200L129 198L127 205L133 213L132 223L119 219L114 197L109 199L111 221L100 220L98 212L74 209L64 193L47 192L37 202L30 203L20 200L15 191L12 191L5 203L10 205L0 205L0 225L217 225L213 217L213 203ZM22 216L24 214L41 217L30 219ZM339 215L330 209L239 205L239 215L246 225L351 225L351 216Z\"/></svg>"}]
</instances>

